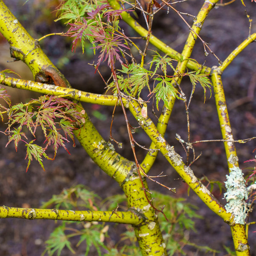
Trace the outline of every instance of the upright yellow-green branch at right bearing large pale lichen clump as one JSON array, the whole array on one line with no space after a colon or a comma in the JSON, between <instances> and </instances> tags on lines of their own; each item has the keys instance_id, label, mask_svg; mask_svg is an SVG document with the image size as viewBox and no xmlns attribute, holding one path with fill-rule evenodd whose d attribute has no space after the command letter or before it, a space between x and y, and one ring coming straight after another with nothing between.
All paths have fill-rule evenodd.
<instances>
[{"instance_id":1,"label":"upright yellow-green branch at right bearing large pale lichen clump","mask_svg":"<svg viewBox=\"0 0 256 256\"><path fill-rule=\"evenodd\" d=\"M241 170L239 169L236 148L235 148L235 144L233 143L234 139L233 139L232 129L230 126L224 89L221 81L221 73L222 71L220 67L212 67L212 84L213 84L213 89L215 94L215 102L216 102L216 107L218 112L218 118L221 126L221 134L222 134L223 140L228 140L228 142L224 141L224 146L225 146L229 171L230 171L230 174L231 173L233 174L235 173L234 170L237 170L237 169L239 171ZM244 186L245 186L245 181L243 177L240 177L240 178L241 180L238 180L238 178L236 178L235 180L232 179L233 184L230 184L229 186L231 187L231 190L229 191L229 189L227 189L227 193L225 193L227 201L230 201L228 204L226 204L226 209L229 212L232 212L233 217L235 217L234 220L236 220L236 217L238 217L238 215L239 216L242 215L239 218L242 218L242 221L244 221L247 215L246 211L244 210L244 207L246 207L245 200L247 200L247 196L244 197L243 195L242 198L237 198L239 200L228 199L229 197L236 198L237 196L236 188L238 188L241 183L244 183ZM235 184L236 182L238 182L237 185ZM226 185L227 185L227 182L226 182ZM239 189L242 189L242 188L239 188ZM245 194L247 194L246 189L245 189ZM231 209L229 209L230 207ZM245 230L244 224L236 223L235 225L230 225L230 227L231 227L233 241L236 249L236 255L237 256L250 255L250 247L248 244L248 239L246 236L246 230Z\"/></svg>"}]
</instances>

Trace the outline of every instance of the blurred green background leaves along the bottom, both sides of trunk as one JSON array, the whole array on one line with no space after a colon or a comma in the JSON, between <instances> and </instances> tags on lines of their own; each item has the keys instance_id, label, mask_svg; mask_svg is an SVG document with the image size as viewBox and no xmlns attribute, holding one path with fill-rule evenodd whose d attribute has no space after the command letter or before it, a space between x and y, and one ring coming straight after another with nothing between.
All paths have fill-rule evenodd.
<instances>
[{"instance_id":1,"label":"blurred green background leaves along the bottom, both sides of trunk","mask_svg":"<svg viewBox=\"0 0 256 256\"><path fill-rule=\"evenodd\" d=\"M202 218L200 215L196 213L197 207L192 204L186 203L184 198L173 198L170 195L163 195L159 192L152 192L152 196L157 198L155 205L157 207L165 205L166 216L169 221L166 221L163 215L159 215L160 228L163 232L163 237L165 239L165 243L167 245L168 255L174 255L174 253L185 254L183 247L184 245L190 245L192 247L196 247L201 251L212 251L211 248L207 246L198 246L196 244L192 244L189 240L186 239L186 232L195 232L195 218ZM98 195L94 192L89 191L83 185L73 186L70 189L64 189L60 195L53 195L52 199L48 202L44 203L42 206L45 207L55 207L55 208L63 208L63 209L103 209L103 210L113 210L117 207L120 207L124 210L127 210L127 207L124 206L126 202L125 195L113 195L111 197L106 198L104 201L101 201ZM104 256L110 255L141 255L140 249L137 247L137 239L134 235L134 231L132 227L129 225L126 226L126 231L122 233L120 241L125 241L125 245L122 245L121 248L116 244L115 247L111 245L111 243L107 243L106 245L103 243L103 236L107 236L108 225L98 224L98 223L87 223L83 224L79 229L81 224L76 224L76 229L72 229L74 232L66 234L70 228L68 226L72 226L73 224L68 224L68 222L64 222L61 227L55 229L55 231L51 234L49 239L47 240L47 252L49 255L55 252L56 250L61 250L67 246L72 252L69 239L73 236L80 236L79 244L81 242L87 243L87 251L85 255L89 253L89 249L91 246L96 247L98 255L102 255L101 248L108 251ZM86 229L84 226L86 225ZM73 227L73 226L72 226ZM66 232L66 233L65 233ZM58 236L62 237L62 246L60 246L60 240L58 240ZM59 249L59 248L62 249ZM98 247L98 249L97 249Z\"/></svg>"}]
</instances>

